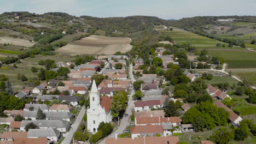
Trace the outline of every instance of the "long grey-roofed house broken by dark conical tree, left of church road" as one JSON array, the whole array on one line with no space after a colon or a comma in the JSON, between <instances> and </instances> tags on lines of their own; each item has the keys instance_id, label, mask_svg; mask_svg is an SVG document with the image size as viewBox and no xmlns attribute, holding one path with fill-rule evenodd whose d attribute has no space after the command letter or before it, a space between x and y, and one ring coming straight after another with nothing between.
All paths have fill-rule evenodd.
<instances>
[{"instance_id":1,"label":"long grey-roofed house broken by dark conical tree, left of church road","mask_svg":"<svg viewBox=\"0 0 256 144\"><path fill-rule=\"evenodd\" d=\"M74 115L71 112L66 111L44 111L45 119L60 119L62 121L72 122ZM31 118L32 120L37 119L37 112L36 111L25 111L23 117L25 119Z\"/></svg>"}]
</instances>

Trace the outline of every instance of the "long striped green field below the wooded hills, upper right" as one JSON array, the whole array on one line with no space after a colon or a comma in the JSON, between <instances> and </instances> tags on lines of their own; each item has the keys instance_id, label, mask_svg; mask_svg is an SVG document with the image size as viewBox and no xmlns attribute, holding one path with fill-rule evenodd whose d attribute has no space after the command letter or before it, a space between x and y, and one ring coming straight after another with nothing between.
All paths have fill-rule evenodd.
<instances>
[{"instance_id":1,"label":"long striped green field below the wooded hills, upper right","mask_svg":"<svg viewBox=\"0 0 256 144\"><path fill-rule=\"evenodd\" d=\"M188 31L161 31L164 35L170 36L178 44L192 44L199 46L215 46L221 41L203 37Z\"/></svg>"}]
</instances>

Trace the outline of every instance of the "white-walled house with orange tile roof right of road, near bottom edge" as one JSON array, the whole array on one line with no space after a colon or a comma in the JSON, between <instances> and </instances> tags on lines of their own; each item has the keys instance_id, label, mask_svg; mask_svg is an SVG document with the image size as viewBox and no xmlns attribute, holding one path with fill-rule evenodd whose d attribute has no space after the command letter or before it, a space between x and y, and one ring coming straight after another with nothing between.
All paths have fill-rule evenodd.
<instances>
[{"instance_id":1,"label":"white-walled house with orange tile roof right of road, near bottom edge","mask_svg":"<svg viewBox=\"0 0 256 144\"><path fill-rule=\"evenodd\" d=\"M162 125L137 125L131 127L132 139L144 136L155 136L156 134L164 134Z\"/></svg>"}]
</instances>

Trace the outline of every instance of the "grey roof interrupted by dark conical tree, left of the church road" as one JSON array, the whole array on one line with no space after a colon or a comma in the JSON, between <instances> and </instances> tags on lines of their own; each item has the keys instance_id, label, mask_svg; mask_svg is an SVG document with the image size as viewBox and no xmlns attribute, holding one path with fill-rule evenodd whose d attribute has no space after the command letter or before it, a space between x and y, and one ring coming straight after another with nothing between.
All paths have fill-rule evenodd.
<instances>
[{"instance_id":1,"label":"grey roof interrupted by dark conical tree, left of the church road","mask_svg":"<svg viewBox=\"0 0 256 144\"><path fill-rule=\"evenodd\" d=\"M63 112L63 111L44 111L46 118L59 118L59 119L67 119L73 116L71 112ZM37 111L24 111L23 117L37 117Z\"/></svg>"}]
</instances>

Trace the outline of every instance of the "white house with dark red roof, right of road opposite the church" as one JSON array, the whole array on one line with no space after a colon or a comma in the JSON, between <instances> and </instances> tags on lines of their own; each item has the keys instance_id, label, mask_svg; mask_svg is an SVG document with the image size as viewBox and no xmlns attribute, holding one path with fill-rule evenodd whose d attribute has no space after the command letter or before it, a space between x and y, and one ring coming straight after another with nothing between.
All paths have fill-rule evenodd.
<instances>
[{"instance_id":1,"label":"white house with dark red roof, right of road opposite the church","mask_svg":"<svg viewBox=\"0 0 256 144\"><path fill-rule=\"evenodd\" d=\"M134 102L134 109L138 111L150 111L152 108L161 108L162 104L160 100L148 100L148 101L136 101Z\"/></svg>"}]
</instances>

